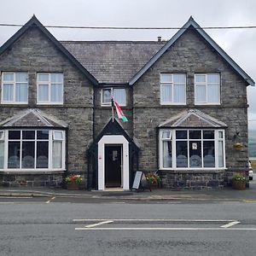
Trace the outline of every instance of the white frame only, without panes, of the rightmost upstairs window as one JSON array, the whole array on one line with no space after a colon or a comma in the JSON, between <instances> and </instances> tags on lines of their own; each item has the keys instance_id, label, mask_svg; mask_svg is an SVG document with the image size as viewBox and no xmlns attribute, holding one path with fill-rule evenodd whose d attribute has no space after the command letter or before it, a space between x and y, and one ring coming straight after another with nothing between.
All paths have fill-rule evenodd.
<instances>
[{"instance_id":1,"label":"white frame only, without panes, of the rightmost upstairs window","mask_svg":"<svg viewBox=\"0 0 256 256\"><path fill-rule=\"evenodd\" d=\"M207 80L208 75L210 74L218 74L218 102L209 102L208 99L208 85L216 85L216 83L209 83ZM204 75L206 76L206 82L195 82L194 94L195 94L195 105L220 105L220 73L195 73L194 74L194 81L196 75ZM206 87L206 102L198 102L196 99L196 86L197 85L204 85Z\"/></svg>"}]
</instances>

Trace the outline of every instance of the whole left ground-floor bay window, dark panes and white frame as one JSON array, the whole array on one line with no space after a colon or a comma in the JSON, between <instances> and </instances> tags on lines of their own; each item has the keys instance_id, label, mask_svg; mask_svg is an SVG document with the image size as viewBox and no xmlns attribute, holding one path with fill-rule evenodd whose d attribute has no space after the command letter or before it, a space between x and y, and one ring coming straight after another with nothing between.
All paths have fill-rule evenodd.
<instances>
[{"instance_id":1,"label":"whole left ground-floor bay window, dark panes and white frame","mask_svg":"<svg viewBox=\"0 0 256 256\"><path fill-rule=\"evenodd\" d=\"M65 131L0 131L0 169L65 170Z\"/></svg>"}]
</instances>

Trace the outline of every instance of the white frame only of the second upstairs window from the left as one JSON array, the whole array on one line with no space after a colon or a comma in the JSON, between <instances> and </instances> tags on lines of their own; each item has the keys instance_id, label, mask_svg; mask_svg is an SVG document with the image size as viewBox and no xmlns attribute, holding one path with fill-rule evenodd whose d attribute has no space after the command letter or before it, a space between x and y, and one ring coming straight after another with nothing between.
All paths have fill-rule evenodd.
<instances>
[{"instance_id":1,"label":"white frame only of the second upstairs window from the left","mask_svg":"<svg viewBox=\"0 0 256 256\"><path fill-rule=\"evenodd\" d=\"M49 80L48 81L39 81L40 74L48 74ZM62 74L62 82L52 83L51 79L50 79L52 74ZM48 99L49 99L48 101L39 101L39 85L40 84L48 85ZM51 101L51 85L52 84L61 84L62 85L61 86L61 102L52 102ZM42 72L42 73L37 74L37 104L38 105L63 105L63 102L64 102L63 98L64 98L64 74L63 73L44 73L44 72Z\"/></svg>"}]
</instances>

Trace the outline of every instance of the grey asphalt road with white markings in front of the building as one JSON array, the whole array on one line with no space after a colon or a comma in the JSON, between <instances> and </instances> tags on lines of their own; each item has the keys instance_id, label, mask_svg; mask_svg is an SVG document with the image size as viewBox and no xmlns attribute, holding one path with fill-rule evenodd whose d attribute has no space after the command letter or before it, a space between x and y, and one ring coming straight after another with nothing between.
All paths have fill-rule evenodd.
<instances>
[{"instance_id":1,"label":"grey asphalt road with white markings in front of the building","mask_svg":"<svg viewBox=\"0 0 256 256\"><path fill-rule=\"evenodd\" d=\"M59 200L0 198L0 255L256 254L255 201Z\"/></svg>"}]
</instances>

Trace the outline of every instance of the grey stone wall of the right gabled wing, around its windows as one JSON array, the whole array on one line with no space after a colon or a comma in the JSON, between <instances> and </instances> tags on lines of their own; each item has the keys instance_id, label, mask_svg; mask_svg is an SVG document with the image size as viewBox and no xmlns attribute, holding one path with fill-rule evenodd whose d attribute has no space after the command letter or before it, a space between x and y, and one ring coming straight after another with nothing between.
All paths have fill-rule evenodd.
<instances>
[{"instance_id":1,"label":"grey stone wall of the right gabled wing, around its windows","mask_svg":"<svg viewBox=\"0 0 256 256\"><path fill-rule=\"evenodd\" d=\"M186 105L160 105L160 73L186 73ZM220 73L221 77L221 104L195 105L194 75L195 73ZM158 170L158 135L156 127L166 119L189 108L197 108L213 118L223 121L225 129L225 151L227 171L218 177L220 186L224 184L227 172L247 170L247 84L243 79L223 61L223 59L201 39L196 32L187 31L181 38L143 74L133 85L133 116L134 137L140 146L139 169L143 171ZM238 135L237 137L235 135ZM235 140L243 143L240 152L233 148ZM217 171L218 172L218 171ZM201 186L208 186L217 180L213 176L201 172ZM217 175L217 174L216 174ZM219 174L218 174L219 175ZM178 177L178 179L177 179ZM191 186L195 177L193 173L169 174L166 171L164 180L166 187L172 187L177 180L184 182L184 186ZM167 181L169 180L169 181Z\"/></svg>"}]
</instances>

